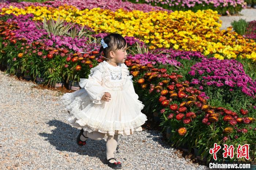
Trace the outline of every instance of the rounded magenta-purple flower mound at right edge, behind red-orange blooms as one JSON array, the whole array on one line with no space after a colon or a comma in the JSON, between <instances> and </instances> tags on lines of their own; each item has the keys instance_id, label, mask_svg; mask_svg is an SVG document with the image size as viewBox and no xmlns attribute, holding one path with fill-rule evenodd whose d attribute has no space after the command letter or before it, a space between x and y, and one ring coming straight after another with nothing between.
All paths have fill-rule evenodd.
<instances>
[{"instance_id":1,"label":"rounded magenta-purple flower mound at right edge, behind red-orange blooms","mask_svg":"<svg viewBox=\"0 0 256 170\"><path fill-rule=\"evenodd\" d=\"M196 73L199 73L199 76ZM203 85L232 87L230 91L239 88L246 95L255 98L256 81L245 74L243 65L234 59L202 58L202 62L191 67L189 74L197 75L196 78L202 84L204 82Z\"/></svg>"}]
</instances>

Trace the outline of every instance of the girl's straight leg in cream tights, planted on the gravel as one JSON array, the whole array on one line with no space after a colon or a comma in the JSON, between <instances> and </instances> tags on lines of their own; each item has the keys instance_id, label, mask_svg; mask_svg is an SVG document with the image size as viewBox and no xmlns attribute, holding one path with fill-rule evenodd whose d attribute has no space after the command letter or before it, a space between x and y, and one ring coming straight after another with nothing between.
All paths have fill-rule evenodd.
<instances>
[{"instance_id":1,"label":"girl's straight leg in cream tights, planted on the gravel","mask_svg":"<svg viewBox=\"0 0 256 170\"><path fill-rule=\"evenodd\" d=\"M106 148L107 148L107 159L114 158L114 154L116 153L117 148L117 140L118 135L114 136L108 136L107 142L106 142ZM110 163L116 162L114 159L109 161Z\"/></svg>"}]
</instances>

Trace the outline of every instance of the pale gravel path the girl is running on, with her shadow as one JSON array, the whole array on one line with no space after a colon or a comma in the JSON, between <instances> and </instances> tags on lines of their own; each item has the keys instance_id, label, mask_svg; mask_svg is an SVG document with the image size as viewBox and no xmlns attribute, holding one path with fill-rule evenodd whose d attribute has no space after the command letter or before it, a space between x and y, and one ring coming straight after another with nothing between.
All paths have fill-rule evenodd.
<instances>
[{"instance_id":1,"label":"pale gravel path the girl is running on, with her shadow","mask_svg":"<svg viewBox=\"0 0 256 170\"><path fill-rule=\"evenodd\" d=\"M77 146L62 94L35 85L0 72L0 169L111 169L103 163L106 137ZM158 131L118 136L116 158L127 170L208 169L162 143Z\"/></svg>"}]
</instances>

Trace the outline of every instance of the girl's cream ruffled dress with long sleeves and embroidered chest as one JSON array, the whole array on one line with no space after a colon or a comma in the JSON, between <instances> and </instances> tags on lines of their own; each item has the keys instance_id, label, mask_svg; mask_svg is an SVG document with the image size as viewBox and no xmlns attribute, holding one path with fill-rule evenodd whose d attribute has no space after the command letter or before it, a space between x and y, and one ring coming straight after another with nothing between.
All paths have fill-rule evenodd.
<instances>
[{"instance_id":1,"label":"girl's cream ruffled dress with long sleeves and embroidered chest","mask_svg":"<svg viewBox=\"0 0 256 170\"><path fill-rule=\"evenodd\" d=\"M80 78L82 89L65 93L61 101L69 111L67 120L84 131L98 131L109 136L131 135L142 131L147 120L144 105L135 93L132 75L124 63L112 66L103 61L90 70L88 79ZM105 92L111 100L101 100Z\"/></svg>"}]
</instances>

